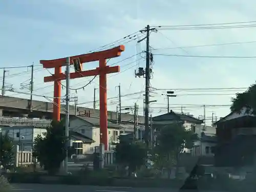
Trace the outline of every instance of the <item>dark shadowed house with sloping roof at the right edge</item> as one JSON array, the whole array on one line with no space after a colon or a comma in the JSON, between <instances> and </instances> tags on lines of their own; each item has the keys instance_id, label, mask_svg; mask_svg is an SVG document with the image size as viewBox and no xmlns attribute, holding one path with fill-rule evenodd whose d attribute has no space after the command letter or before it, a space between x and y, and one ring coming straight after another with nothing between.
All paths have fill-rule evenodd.
<instances>
[{"instance_id":1,"label":"dark shadowed house with sloping roof at the right edge","mask_svg":"<svg viewBox=\"0 0 256 192\"><path fill-rule=\"evenodd\" d=\"M214 123L218 144L216 166L253 166L256 160L256 117L246 110L232 112Z\"/></svg>"}]
</instances>

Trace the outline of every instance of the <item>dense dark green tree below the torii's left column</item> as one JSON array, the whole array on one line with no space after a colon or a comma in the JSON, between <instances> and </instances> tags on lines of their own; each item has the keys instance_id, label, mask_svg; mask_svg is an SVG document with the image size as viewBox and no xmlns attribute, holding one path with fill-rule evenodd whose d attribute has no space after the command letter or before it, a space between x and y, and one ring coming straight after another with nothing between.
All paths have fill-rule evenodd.
<instances>
[{"instance_id":1,"label":"dense dark green tree below the torii's left column","mask_svg":"<svg viewBox=\"0 0 256 192\"><path fill-rule=\"evenodd\" d=\"M58 172L61 162L65 159L67 141L65 121L52 121L47 132L35 138L33 156L50 175Z\"/></svg>"}]
</instances>

